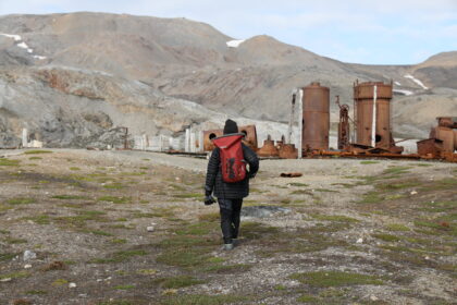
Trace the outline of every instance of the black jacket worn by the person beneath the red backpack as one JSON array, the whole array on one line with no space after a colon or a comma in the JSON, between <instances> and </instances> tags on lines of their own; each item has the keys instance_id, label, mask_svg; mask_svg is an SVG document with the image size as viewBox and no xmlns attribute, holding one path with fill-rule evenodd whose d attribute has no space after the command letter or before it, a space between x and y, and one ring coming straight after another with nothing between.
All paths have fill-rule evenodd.
<instances>
[{"instance_id":1,"label":"black jacket worn by the person beneath the red backpack","mask_svg":"<svg viewBox=\"0 0 457 305\"><path fill-rule=\"evenodd\" d=\"M254 178L259 170L259 158L245 144L242 144L242 147L244 158L249 164L249 172L245 180L235 183L226 183L222 180L220 149L214 148L208 162L206 195L211 195L213 191L214 196L222 199L244 198L249 195L249 179Z\"/></svg>"}]
</instances>

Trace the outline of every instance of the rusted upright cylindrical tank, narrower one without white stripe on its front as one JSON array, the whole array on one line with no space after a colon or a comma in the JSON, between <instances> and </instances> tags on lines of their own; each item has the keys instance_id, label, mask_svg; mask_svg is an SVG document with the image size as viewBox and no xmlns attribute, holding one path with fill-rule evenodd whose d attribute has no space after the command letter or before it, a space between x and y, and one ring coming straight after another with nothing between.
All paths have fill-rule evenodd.
<instances>
[{"instance_id":1,"label":"rusted upright cylindrical tank, narrower one without white stripe on its front","mask_svg":"<svg viewBox=\"0 0 457 305\"><path fill-rule=\"evenodd\" d=\"M329 150L330 89L311 83L304 88L302 106L302 149Z\"/></svg>"}]
</instances>

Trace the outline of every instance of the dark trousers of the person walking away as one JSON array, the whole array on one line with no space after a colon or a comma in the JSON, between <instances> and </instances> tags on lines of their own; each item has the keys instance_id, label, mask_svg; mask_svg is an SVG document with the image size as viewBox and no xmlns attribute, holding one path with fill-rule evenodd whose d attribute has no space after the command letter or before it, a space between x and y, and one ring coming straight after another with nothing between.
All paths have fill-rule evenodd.
<instances>
[{"instance_id":1,"label":"dark trousers of the person walking away","mask_svg":"<svg viewBox=\"0 0 457 305\"><path fill-rule=\"evenodd\" d=\"M239 215L242 212L243 198L239 199L218 199L221 211L221 229L224 243L231 244L232 239L238 237Z\"/></svg>"}]
</instances>

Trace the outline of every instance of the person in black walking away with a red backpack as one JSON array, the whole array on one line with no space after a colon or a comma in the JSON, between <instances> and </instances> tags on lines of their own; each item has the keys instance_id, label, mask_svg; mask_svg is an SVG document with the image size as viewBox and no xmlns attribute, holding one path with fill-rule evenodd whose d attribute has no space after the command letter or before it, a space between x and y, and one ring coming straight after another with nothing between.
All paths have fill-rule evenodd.
<instances>
[{"instance_id":1,"label":"person in black walking away with a red backpack","mask_svg":"<svg viewBox=\"0 0 457 305\"><path fill-rule=\"evenodd\" d=\"M224 249L233 249L238 237L243 198L249 195L249 180L259 170L256 152L242 143L244 134L238 133L235 121L226 120L224 135L213 139L215 148L208 162L205 205L218 198L221 213L221 230Z\"/></svg>"}]
</instances>

